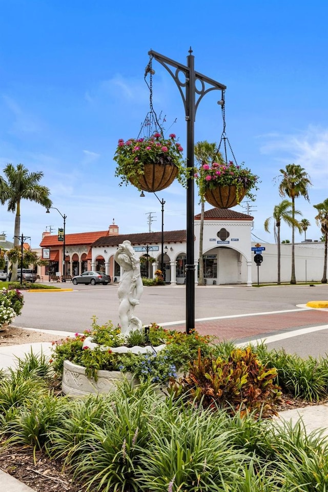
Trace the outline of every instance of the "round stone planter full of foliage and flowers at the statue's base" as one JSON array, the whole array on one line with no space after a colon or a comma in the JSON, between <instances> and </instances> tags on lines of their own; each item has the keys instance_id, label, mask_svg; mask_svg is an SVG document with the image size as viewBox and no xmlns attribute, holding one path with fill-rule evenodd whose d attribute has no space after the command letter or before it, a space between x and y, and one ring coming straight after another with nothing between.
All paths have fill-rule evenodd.
<instances>
[{"instance_id":1,"label":"round stone planter full of foliage and flowers at the statue's base","mask_svg":"<svg viewBox=\"0 0 328 492\"><path fill-rule=\"evenodd\" d=\"M65 394L109 393L122 378L132 384L144 378L167 384L178 370L188 366L190 358L197 356L198 348L202 354L210 352L210 340L196 332L187 335L165 330L156 323L147 332L136 330L124 337L119 326L111 322L98 325L93 317L91 330L53 342L50 362L55 374L62 377ZM162 349L156 352L154 348L160 344ZM121 347L131 347L132 352L122 353ZM140 353L142 347L150 350Z\"/></svg>"}]
</instances>

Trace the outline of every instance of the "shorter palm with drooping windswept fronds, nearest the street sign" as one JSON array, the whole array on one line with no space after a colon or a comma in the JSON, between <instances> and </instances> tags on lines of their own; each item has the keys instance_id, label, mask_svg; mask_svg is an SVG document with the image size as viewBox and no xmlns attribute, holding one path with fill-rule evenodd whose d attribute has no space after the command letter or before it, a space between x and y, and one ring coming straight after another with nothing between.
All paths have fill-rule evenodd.
<instances>
[{"instance_id":1,"label":"shorter palm with drooping windswept fronds, nearest the street sign","mask_svg":"<svg viewBox=\"0 0 328 492\"><path fill-rule=\"evenodd\" d=\"M274 220L273 224L273 232L275 236L275 241L277 243L277 256L278 256L278 278L277 278L277 284L280 285L280 258L281 258L281 253L280 253L280 225L281 221L284 221L286 224L288 224L289 227L297 227L298 229L301 227L300 222L298 222L295 217L293 217L293 211L291 210L292 207L292 202L289 200L282 200L281 203L278 205L275 205L273 209L273 215L272 217L268 217L264 221L264 230L266 232L270 232L270 223L271 220ZM294 211L294 215L301 215L301 212L299 210Z\"/></svg>"}]
</instances>

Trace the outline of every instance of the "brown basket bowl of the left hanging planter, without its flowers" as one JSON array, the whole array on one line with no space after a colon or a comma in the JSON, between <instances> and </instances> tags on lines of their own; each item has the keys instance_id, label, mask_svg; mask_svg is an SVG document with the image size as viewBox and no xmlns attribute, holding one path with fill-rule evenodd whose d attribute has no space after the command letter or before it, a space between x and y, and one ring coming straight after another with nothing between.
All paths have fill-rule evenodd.
<instances>
[{"instance_id":1,"label":"brown basket bowl of the left hanging planter, without its flowers","mask_svg":"<svg viewBox=\"0 0 328 492\"><path fill-rule=\"evenodd\" d=\"M178 171L178 168L171 163L145 163L144 174L140 174L137 178L133 177L133 179L129 180L139 190L153 193L164 190L172 185L178 175Z\"/></svg>"}]
</instances>

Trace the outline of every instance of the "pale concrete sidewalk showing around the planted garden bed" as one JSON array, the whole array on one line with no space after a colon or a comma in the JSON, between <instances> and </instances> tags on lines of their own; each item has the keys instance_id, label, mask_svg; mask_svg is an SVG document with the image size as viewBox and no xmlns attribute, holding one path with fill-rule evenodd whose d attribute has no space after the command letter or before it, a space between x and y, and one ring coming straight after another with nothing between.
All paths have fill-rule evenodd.
<instances>
[{"instance_id":1,"label":"pale concrete sidewalk showing around the planted garden bed","mask_svg":"<svg viewBox=\"0 0 328 492\"><path fill-rule=\"evenodd\" d=\"M54 339L73 336L72 333L52 330L47 330L47 333L53 334ZM10 346L0 345L0 370L7 370L10 367L15 368L17 359L24 359L25 354L29 354L31 351L33 354L42 353L50 357L51 346L49 342ZM306 432L310 433L314 430L322 429L322 435L328 439L328 402L322 405L312 405L280 412L273 422L277 425L283 421L291 421L292 424L295 424L300 418ZM34 490L0 469L0 492L34 492Z\"/></svg>"}]
</instances>

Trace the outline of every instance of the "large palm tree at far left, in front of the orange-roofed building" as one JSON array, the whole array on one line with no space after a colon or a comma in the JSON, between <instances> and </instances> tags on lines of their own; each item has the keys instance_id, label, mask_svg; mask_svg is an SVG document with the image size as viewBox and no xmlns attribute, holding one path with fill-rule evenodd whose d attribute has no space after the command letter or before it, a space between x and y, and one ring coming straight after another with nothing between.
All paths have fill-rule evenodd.
<instances>
[{"instance_id":1,"label":"large palm tree at far left, in front of the orange-roofed building","mask_svg":"<svg viewBox=\"0 0 328 492\"><path fill-rule=\"evenodd\" d=\"M35 201L46 208L51 207L49 198L50 190L46 186L39 185L43 178L43 172L29 172L23 164L7 164L4 169L7 178L0 176L0 203L8 201L8 212L16 213L14 226L14 247L18 247L20 235L20 202L25 200ZM17 262L12 265L11 280L17 280Z\"/></svg>"}]
</instances>

